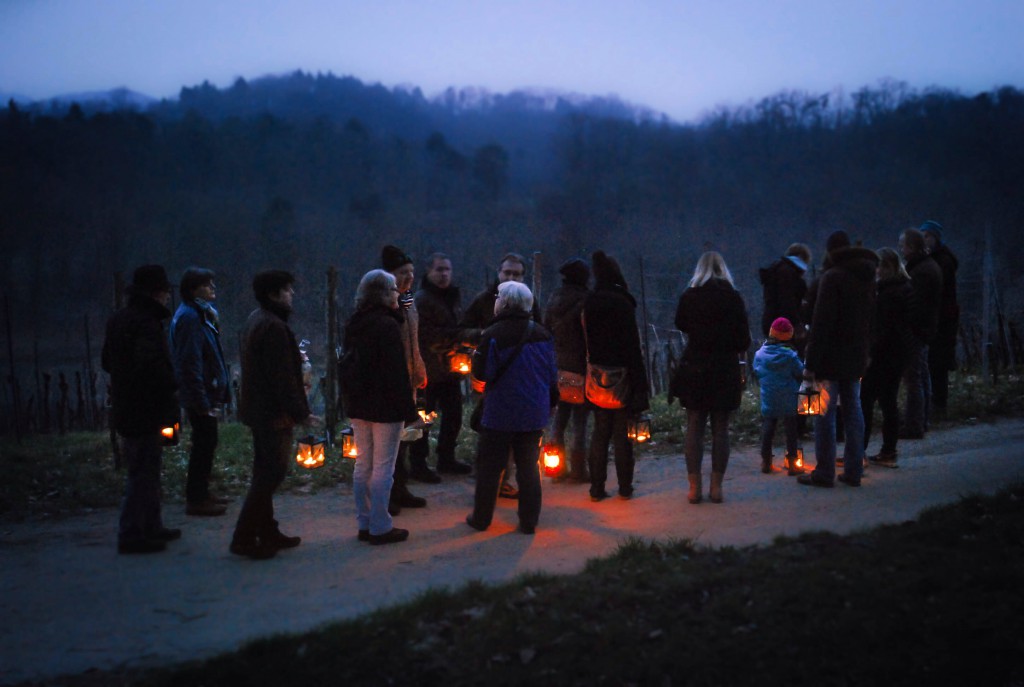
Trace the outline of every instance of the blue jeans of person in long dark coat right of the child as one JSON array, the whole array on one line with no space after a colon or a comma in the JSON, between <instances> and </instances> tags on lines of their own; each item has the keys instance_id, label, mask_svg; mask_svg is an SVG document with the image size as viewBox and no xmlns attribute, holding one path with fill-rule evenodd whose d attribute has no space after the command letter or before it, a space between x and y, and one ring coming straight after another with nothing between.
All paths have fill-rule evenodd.
<instances>
[{"instance_id":1,"label":"blue jeans of person in long dark coat right of the child","mask_svg":"<svg viewBox=\"0 0 1024 687\"><path fill-rule=\"evenodd\" d=\"M860 480L864 473L864 415L860 409L860 380L822 382L828 391L828 410L814 418L814 479L836 479L836 401L843 412L843 473Z\"/></svg>"}]
</instances>

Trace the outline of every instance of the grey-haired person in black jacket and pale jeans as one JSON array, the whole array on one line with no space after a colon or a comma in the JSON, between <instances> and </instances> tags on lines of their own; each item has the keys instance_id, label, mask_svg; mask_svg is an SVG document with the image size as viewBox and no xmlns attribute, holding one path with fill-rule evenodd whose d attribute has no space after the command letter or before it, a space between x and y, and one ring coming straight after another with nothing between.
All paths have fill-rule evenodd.
<instances>
[{"instance_id":1,"label":"grey-haired person in black jacket and pale jeans","mask_svg":"<svg viewBox=\"0 0 1024 687\"><path fill-rule=\"evenodd\" d=\"M367 272L355 295L355 312L345 325L346 351L354 351L354 389L347 415L352 421L359 457L352 472L358 539L394 544L409 530L394 527L388 513L394 462L406 423L419 419L413 399L401 339L403 315L394 275L383 269Z\"/></svg>"}]
</instances>

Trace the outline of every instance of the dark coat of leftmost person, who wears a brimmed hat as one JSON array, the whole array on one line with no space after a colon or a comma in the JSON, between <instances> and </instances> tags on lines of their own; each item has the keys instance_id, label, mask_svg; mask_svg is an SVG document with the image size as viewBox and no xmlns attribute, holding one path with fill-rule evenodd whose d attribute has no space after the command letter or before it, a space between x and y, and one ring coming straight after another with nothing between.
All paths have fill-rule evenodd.
<instances>
[{"instance_id":1,"label":"dark coat of leftmost person, who wears a brimmed hat","mask_svg":"<svg viewBox=\"0 0 1024 687\"><path fill-rule=\"evenodd\" d=\"M106 323L102 366L111 376L111 425L122 436L156 433L180 417L163 325L170 314L136 294Z\"/></svg>"}]
</instances>

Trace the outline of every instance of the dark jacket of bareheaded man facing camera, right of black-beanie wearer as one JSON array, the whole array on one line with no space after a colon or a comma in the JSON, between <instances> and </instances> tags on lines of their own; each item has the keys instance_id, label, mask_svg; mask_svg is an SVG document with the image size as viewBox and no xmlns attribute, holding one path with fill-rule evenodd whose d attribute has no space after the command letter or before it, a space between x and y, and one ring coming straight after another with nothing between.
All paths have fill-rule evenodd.
<instances>
[{"instance_id":1,"label":"dark jacket of bareheaded man facing camera, right of black-beanie wearer","mask_svg":"<svg viewBox=\"0 0 1024 687\"><path fill-rule=\"evenodd\" d=\"M461 375L452 372L449 357L460 344L475 342L479 330L466 331L459 325L462 316L459 287L438 289L424 276L416 292L416 309L420 353L428 383L461 379Z\"/></svg>"}]
</instances>

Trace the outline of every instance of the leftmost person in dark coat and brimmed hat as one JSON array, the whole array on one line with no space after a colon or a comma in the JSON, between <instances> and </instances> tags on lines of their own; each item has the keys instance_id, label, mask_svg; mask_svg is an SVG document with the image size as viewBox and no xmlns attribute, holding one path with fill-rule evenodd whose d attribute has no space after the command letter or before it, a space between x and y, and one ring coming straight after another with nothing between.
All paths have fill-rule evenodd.
<instances>
[{"instance_id":1,"label":"leftmost person in dark coat and brimmed hat","mask_svg":"<svg viewBox=\"0 0 1024 687\"><path fill-rule=\"evenodd\" d=\"M156 553L181 530L164 526L160 509L161 429L178 422L174 368L163 320L171 315L171 284L160 265L142 265L128 287L128 305L106 323L102 366L111 376L111 423L128 468L118 553Z\"/></svg>"}]
</instances>

